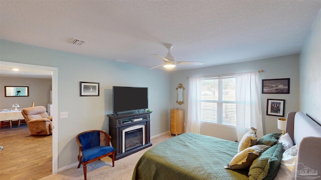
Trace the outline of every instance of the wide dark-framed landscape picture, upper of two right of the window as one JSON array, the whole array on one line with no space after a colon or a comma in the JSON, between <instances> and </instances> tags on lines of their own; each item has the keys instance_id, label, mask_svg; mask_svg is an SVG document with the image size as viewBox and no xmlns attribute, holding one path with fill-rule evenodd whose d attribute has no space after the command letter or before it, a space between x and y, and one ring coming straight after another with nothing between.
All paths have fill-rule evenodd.
<instances>
[{"instance_id":1,"label":"wide dark-framed landscape picture, upper of two right of the window","mask_svg":"<svg viewBox=\"0 0 321 180\"><path fill-rule=\"evenodd\" d=\"M262 79L262 93L290 93L290 78Z\"/></svg>"}]
</instances>

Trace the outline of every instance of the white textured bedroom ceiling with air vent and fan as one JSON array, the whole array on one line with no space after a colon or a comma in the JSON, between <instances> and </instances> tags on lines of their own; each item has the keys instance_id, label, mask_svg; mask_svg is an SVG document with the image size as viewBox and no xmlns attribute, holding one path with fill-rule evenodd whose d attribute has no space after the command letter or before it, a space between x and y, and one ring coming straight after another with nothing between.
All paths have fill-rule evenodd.
<instances>
[{"instance_id":1,"label":"white textured bedroom ceiling with air vent and fan","mask_svg":"<svg viewBox=\"0 0 321 180\"><path fill-rule=\"evenodd\" d=\"M296 54L321 0L0 0L0 38L175 70ZM68 43L84 40L83 45ZM164 69L164 67L157 67Z\"/></svg>"}]
</instances>

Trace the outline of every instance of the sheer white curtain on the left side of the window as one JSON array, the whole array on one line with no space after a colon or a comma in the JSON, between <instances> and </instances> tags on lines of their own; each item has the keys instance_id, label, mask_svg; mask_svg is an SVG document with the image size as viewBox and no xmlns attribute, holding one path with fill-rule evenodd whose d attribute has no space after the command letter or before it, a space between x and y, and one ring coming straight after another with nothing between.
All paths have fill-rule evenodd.
<instances>
[{"instance_id":1,"label":"sheer white curtain on the left side of the window","mask_svg":"<svg viewBox=\"0 0 321 180\"><path fill-rule=\"evenodd\" d=\"M187 132L201 133L202 77L189 77Z\"/></svg>"}]
</instances>

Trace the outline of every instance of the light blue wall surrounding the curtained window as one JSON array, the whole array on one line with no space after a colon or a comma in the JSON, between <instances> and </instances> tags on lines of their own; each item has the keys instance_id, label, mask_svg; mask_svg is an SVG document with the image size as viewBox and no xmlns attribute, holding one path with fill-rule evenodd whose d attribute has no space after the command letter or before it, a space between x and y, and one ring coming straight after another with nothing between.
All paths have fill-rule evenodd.
<instances>
[{"instance_id":1,"label":"light blue wall surrounding the curtained window","mask_svg":"<svg viewBox=\"0 0 321 180\"><path fill-rule=\"evenodd\" d=\"M190 76L204 76L216 74L228 74L238 72L249 72L263 69L260 73L261 79L272 78L290 78L290 93L289 94L261 94L261 106L263 116L263 133L280 132L277 129L278 116L266 115L267 99L285 99L285 115L289 111L297 111L299 109L299 56L288 55L281 57L273 57L259 60L252 60L239 63L231 63L225 65L216 65L204 68L195 68L189 70L174 71L171 75L171 107L185 109L185 121L187 120L188 109L188 92ZM176 87L179 83L185 86L184 100L185 103L179 105L176 103ZM260 87L261 88L261 87ZM186 127L185 127L186 129ZM221 125L213 125L204 123L201 126L201 133L212 135L224 139L236 140L235 128Z\"/></svg>"}]
</instances>

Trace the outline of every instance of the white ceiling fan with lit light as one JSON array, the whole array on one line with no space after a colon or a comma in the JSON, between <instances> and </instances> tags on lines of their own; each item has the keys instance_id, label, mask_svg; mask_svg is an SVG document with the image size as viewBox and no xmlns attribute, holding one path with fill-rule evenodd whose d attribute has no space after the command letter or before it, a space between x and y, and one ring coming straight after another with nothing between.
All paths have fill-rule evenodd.
<instances>
[{"instance_id":1,"label":"white ceiling fan with lit light","mask_svg":"<svg viewBox=\"0 0 321 180\"><path fill-rule=\"evenodd\" d=\"M159 67L162 65L165 68L171 69L171 68L174 68L176 66L176 64L202 65L204 63L204 62L196 62L196 61L176 61L176 60L174 60L174 56L170 52L170 49L173 48L173 44L165 44L165 47L167 49L169 49L169 52L167 53L167 55L165 57L157 55L157 54L151 54L159 59L162 59L164 61L164 63L160 64L160 65L156 65L156 66L151 67L149 69L156 68L156 67Z\"/></svg>"}]
</instances>

